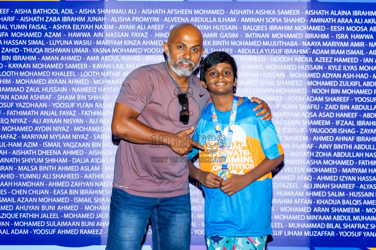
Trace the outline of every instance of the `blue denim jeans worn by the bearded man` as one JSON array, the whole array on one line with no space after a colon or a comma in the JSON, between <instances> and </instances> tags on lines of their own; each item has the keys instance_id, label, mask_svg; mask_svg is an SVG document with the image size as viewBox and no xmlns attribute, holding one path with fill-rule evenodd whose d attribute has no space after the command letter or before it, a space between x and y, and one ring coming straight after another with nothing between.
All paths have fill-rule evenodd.
<instances>
[{"instance_id":1,"label":"blue denim jeans worn by the bearded man","mask_svg":"<svg viewBox=\"0 0 376 250\"><path fill-rule=\"evenodd\" d=\"M112 188L106 250L139 250L152 221L153 250L189 250L190 194L169 198L130 195Z\"/></svg>"}]
</instances>

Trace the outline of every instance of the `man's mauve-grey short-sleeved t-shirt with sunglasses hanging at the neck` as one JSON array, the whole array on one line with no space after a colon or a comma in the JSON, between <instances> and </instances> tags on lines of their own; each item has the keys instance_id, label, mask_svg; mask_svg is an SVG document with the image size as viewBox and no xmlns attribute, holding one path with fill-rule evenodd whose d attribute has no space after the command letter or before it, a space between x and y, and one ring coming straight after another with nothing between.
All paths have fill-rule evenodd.
<instances>
[{"instance_id":1,"label":"man's mauve-grey short-sleeved t-shirt with sunglasses hanging at the neck","mask_svg":"<svg viewBox=\"0 0 376 250\"><path fill-rule=\"evenodd\" d=\"M141 123L153 129L177 133L196 127L210 95L196 76L190 76L188 97L190 118L179 121L179 85L167 72L165 63L133 70L124 80L116 102L140 113ZM137 136L138 131L133 132ZM193 133L190 134L190 137ZM152 138L159 142L162 138ZM167 140L168 138L164 138ZM115 156L114 187L138 196L164 198L188 193L186 156L165 145L135 144L121 140Z\"/></svg>"}]
</instances>

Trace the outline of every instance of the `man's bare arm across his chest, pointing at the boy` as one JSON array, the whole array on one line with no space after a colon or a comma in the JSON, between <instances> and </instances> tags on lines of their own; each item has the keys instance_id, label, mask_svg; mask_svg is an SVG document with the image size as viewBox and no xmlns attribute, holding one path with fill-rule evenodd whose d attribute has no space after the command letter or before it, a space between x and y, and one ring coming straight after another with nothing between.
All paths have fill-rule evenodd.
<instances>
[{"instance_id":1,"label":"man's bare arm across his chest, pointing at the boy","mask_svg":"<svg viewBox=\"0 0 376 250\"><path fill-rule=\"evenodd\" d=\"M167 145L180 156L188 154L192 150L192 146L203 149L201 144L188 136L194 128L182 130L176 134L156 130L138 121L139 114L128 106L116 102L111 124L112 133L132 143ZM156 138L165 137L170 139L156 140Z\"/></svg>"}]
</instances>

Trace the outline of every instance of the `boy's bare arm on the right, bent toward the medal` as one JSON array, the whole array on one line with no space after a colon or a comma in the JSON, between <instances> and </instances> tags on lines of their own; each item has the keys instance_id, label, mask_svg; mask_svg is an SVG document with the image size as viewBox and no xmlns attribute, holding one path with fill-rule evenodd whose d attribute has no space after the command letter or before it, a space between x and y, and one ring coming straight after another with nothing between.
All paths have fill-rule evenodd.
<instances>
[{"instance_id":1,"label":"boy's bare arm on the right, bent toward the medal","mask_svg":"<svg viewBox=\"0 0 376 250\"><path fill-rule=\"evenodd\" d=\"M259 178L271 172L276 166L279 165L279 163L284 160L284 157L285 155L281 154L273 160L265 158L258 166L244 175L231 174L231 178L221 182L221 191L223 191L223 193L227 193L227 196L233 195L234 193L253 183L253 181L258 180Z\"/></svg>"}]
</instances>

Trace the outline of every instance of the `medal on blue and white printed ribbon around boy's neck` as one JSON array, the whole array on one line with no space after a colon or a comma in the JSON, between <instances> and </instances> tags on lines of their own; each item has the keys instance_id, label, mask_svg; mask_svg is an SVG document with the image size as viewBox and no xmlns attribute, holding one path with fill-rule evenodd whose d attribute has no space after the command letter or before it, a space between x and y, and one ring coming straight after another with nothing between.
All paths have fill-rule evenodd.
<instances>
[{"instance_id":1,"label":"medal on blue and white printed ribbon around boy's neck","mask_svg":"<svg viewBox=\"0 0 376 250\"><path fill-rule=\"evenodd\" d=\"M235 117L236 117L236 111L238 108L238 102L239 102L239 97L234 95L234 100L232 102L231 115L230 115L229 132L227 134L227 139L226 139L226 146L223 144L222 134L221 134L221 130L219 127L217 114L215 113L214 104L211 103L211 112L212 112L214 129L215 129L215 133L217 134L217 141L221 150L221 169L220 171L218 171L218 176L222 177L224 180L227 180L231 176L227 168L227 156L228 156L227 154L229 153L230 147L231 147L231 139L232 139L233 128L235 124Z\"/></svg>"}]
</instances>

